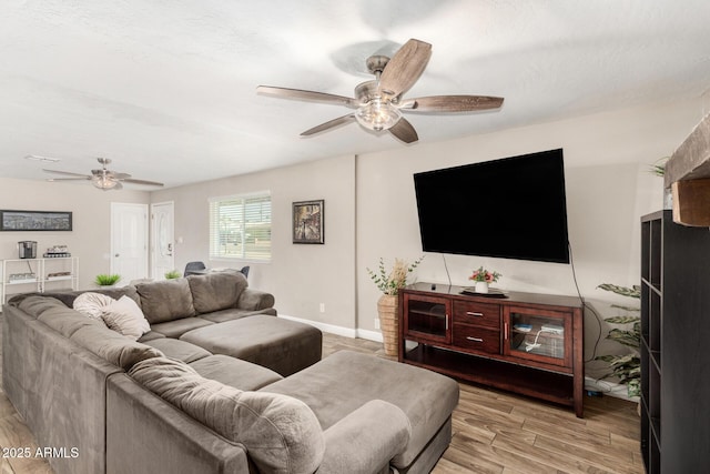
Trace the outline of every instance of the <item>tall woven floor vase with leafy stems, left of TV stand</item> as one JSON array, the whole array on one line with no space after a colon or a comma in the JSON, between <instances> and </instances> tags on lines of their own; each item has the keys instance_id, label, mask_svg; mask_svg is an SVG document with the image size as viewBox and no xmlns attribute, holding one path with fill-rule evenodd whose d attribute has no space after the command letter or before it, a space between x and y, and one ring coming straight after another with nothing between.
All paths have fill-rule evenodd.
<instances>
[{"instance_id":1,"label":"tall woven floor vase with leafy stems, left of TV stand","mask_svg":"<svg viewBox=\"0 0 710 474\"><path fill-rule=\"evenodd\" d=\"M377 300L377 314L382 331L385 354L397 355L399 342L399 317L397 306L399 303L399 290L407 285L407 275L416 269L424 256L417 259L410 265L400 259L395 259L392 271L385 270L384 259L379 259L377 272L367 269L369 278L383 293Z\"/></svg>"}]
</instances>

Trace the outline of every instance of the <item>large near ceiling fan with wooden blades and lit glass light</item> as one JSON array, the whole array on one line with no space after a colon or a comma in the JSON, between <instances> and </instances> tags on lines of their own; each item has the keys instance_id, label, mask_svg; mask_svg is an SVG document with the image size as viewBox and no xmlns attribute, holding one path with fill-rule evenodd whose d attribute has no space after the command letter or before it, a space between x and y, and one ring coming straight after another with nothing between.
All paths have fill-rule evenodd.
<instances>
[{"instance_id":1,"label":"large near ceiling fan with wooden blades and lit glass light","mask_svg":"<svg viewBox=\"0 0 710 474\"><path fill-rule=\"evenodd\" d=\"M329 120L301 133L302 137L329 130L334 127L357 121L376 132L387 130L405 143L418 140L416 130L402 112L473 112L497 109L503 98L488 95L430 95L403 99L424 72L432 56L432 44L410 39L393 57L372 56L367 59L367 70L375 74L374 81L366 81L355 88L355 98L335 95L301 89L258 85L257 93L285 99L310 100L345 105L355 109L346 115Z\"/></svg>"}]
</instances>

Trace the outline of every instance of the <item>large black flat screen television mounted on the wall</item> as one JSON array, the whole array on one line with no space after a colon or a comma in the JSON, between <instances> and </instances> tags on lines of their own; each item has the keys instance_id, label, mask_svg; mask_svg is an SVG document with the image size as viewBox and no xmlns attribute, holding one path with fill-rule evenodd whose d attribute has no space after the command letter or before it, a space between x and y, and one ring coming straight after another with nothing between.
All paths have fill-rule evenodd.
<instances>
[{"instance_id":1,"label":"large black flat screen television mounted on the wall","mask_svg":"<svg viewBox=\"0 0 710 474\"><path fill-rule=\"evenodd\" d=\"M414 174L425 252L569 263L562 150Z\"/></svg>"}]
</instances>

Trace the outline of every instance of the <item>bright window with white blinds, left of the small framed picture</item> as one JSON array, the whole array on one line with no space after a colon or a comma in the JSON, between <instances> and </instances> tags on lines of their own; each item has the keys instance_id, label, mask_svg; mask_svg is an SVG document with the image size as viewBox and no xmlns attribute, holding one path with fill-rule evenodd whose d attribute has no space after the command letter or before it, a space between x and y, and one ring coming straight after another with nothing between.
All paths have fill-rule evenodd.
<instances>
[{"instance_id":1,"label":"bright window with white blinds, left of the small framed picture","mask_svg":"<svg viewBox=\"0 0 710 474\"><path fill-rule=\"evenodd\" d=\"M210 199L210 259L271 260L271 193Z\"/></svg>"}]
</instances>

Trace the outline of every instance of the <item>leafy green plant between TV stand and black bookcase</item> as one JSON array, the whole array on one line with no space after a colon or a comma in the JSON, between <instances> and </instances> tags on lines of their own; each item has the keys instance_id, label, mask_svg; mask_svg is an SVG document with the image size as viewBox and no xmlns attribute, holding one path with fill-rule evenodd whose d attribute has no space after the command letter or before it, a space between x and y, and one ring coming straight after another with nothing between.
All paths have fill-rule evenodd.
<instances>
[{"instance_id":1,"label":"leafy green plant between TV stand and black bookcase","mask_svg":"<svg viewBox=\"0 0 710 474\"><path fill-rule=\"evenodd\" d=\"M618 286L610 283L604 283L597 286L605 291L610 291L622 296L629 296L637 300L641 299L641 288L633 285ZM620 307L628 312L638 312L638 307L620 306L613 304L612 307ZM641 359L639 357L639 346L641 344L641 319L632 314L621 316L605 317L610 324L620 324L628 329L615 327L609 331L608 340L616 341L627 347L631 347L632 352L621 355L598 355L595 360L609 363L609 373L601 379L617 377L619 383L627 385L629 396L639 396L641 393ZM630 326L629 326L630 325Z\"/></svg>"}]
</instances>

